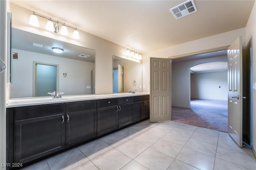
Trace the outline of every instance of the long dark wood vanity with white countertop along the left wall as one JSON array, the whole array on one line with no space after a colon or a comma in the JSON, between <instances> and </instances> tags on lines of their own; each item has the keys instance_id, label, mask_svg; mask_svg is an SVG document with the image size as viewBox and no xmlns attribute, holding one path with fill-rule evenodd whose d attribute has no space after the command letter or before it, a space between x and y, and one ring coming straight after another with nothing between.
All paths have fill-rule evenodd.
<instances>
[{"instance_id":1,"label":"long dark wood vanity with white countertop along the left wall","mask_svg":"<svg viewBox=\"0 0 256 170\"><path fill-rule=\"evenodd\" d=\"M23 167L149 118L149 93L10 99L7 162Z\"/></svg>"}]
</instances>

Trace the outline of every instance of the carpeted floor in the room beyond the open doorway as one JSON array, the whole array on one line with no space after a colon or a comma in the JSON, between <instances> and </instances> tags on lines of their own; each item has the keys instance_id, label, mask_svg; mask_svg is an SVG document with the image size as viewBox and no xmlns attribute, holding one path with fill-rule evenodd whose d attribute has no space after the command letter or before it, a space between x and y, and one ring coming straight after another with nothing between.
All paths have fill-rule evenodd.
<instances>
[{"instance_id":1,"label":"carpeted floor in the room beyond the open doorway","mask_svg":"<svg viewBox=\"0 0 256 170\"><path fill-rule=\"evenodd\" d=\"M172 121L228 131L228 101L191 99L191 109L172 107Z\"/></svg>"}]
</instances>

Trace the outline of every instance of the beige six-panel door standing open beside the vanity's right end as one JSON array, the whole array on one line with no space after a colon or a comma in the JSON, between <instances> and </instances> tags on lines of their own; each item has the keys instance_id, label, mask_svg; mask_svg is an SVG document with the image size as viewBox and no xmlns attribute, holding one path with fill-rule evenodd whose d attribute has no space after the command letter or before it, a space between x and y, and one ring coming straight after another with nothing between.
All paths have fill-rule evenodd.
<instances>
[{"instance_id":1,"label":"beige six-panel door standing open beside the vanity's right end","mask_svg":"<svg viewBox=\"0 0 256 170\"><path fill-rule=\"evenodd\" d=\"M150 58L150 122L170 121L171 59Z\"/></svg>"}]
</instances>

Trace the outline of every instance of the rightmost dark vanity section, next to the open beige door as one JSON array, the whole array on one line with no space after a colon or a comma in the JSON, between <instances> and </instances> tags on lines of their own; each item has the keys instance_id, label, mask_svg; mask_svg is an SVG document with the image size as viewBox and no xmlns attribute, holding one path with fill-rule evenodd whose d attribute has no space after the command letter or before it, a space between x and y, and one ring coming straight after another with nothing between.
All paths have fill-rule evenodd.
<instances>
[{"instance_id":1,"label":"rightmost dark vanity section, next to the open beige door","mask_svg":"<svg viewBox=\"0 0 256 170\"><path fill-rule=\"evenodd\" d=\"M149 117L149 95L134 96L133 112L134 123L142 121Z\"/></svg>"}]
</instances>

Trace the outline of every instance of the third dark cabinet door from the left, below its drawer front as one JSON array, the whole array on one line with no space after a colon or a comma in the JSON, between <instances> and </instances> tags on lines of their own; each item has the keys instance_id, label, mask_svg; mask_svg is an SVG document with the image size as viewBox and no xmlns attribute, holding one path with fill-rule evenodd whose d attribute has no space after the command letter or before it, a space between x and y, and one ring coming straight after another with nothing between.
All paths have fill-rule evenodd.
<instances>
[{"instance_id":1,"label":"third dark cabinet door from the left, below its drawer front","mask_svg":"<svg viewBox=\"0 0 256 170\"><path fill-rule=\"evenodd\" d=\"M97 135L106 134L118 128L118 105L97 109Z\"/></svg>"}]
</instances>

